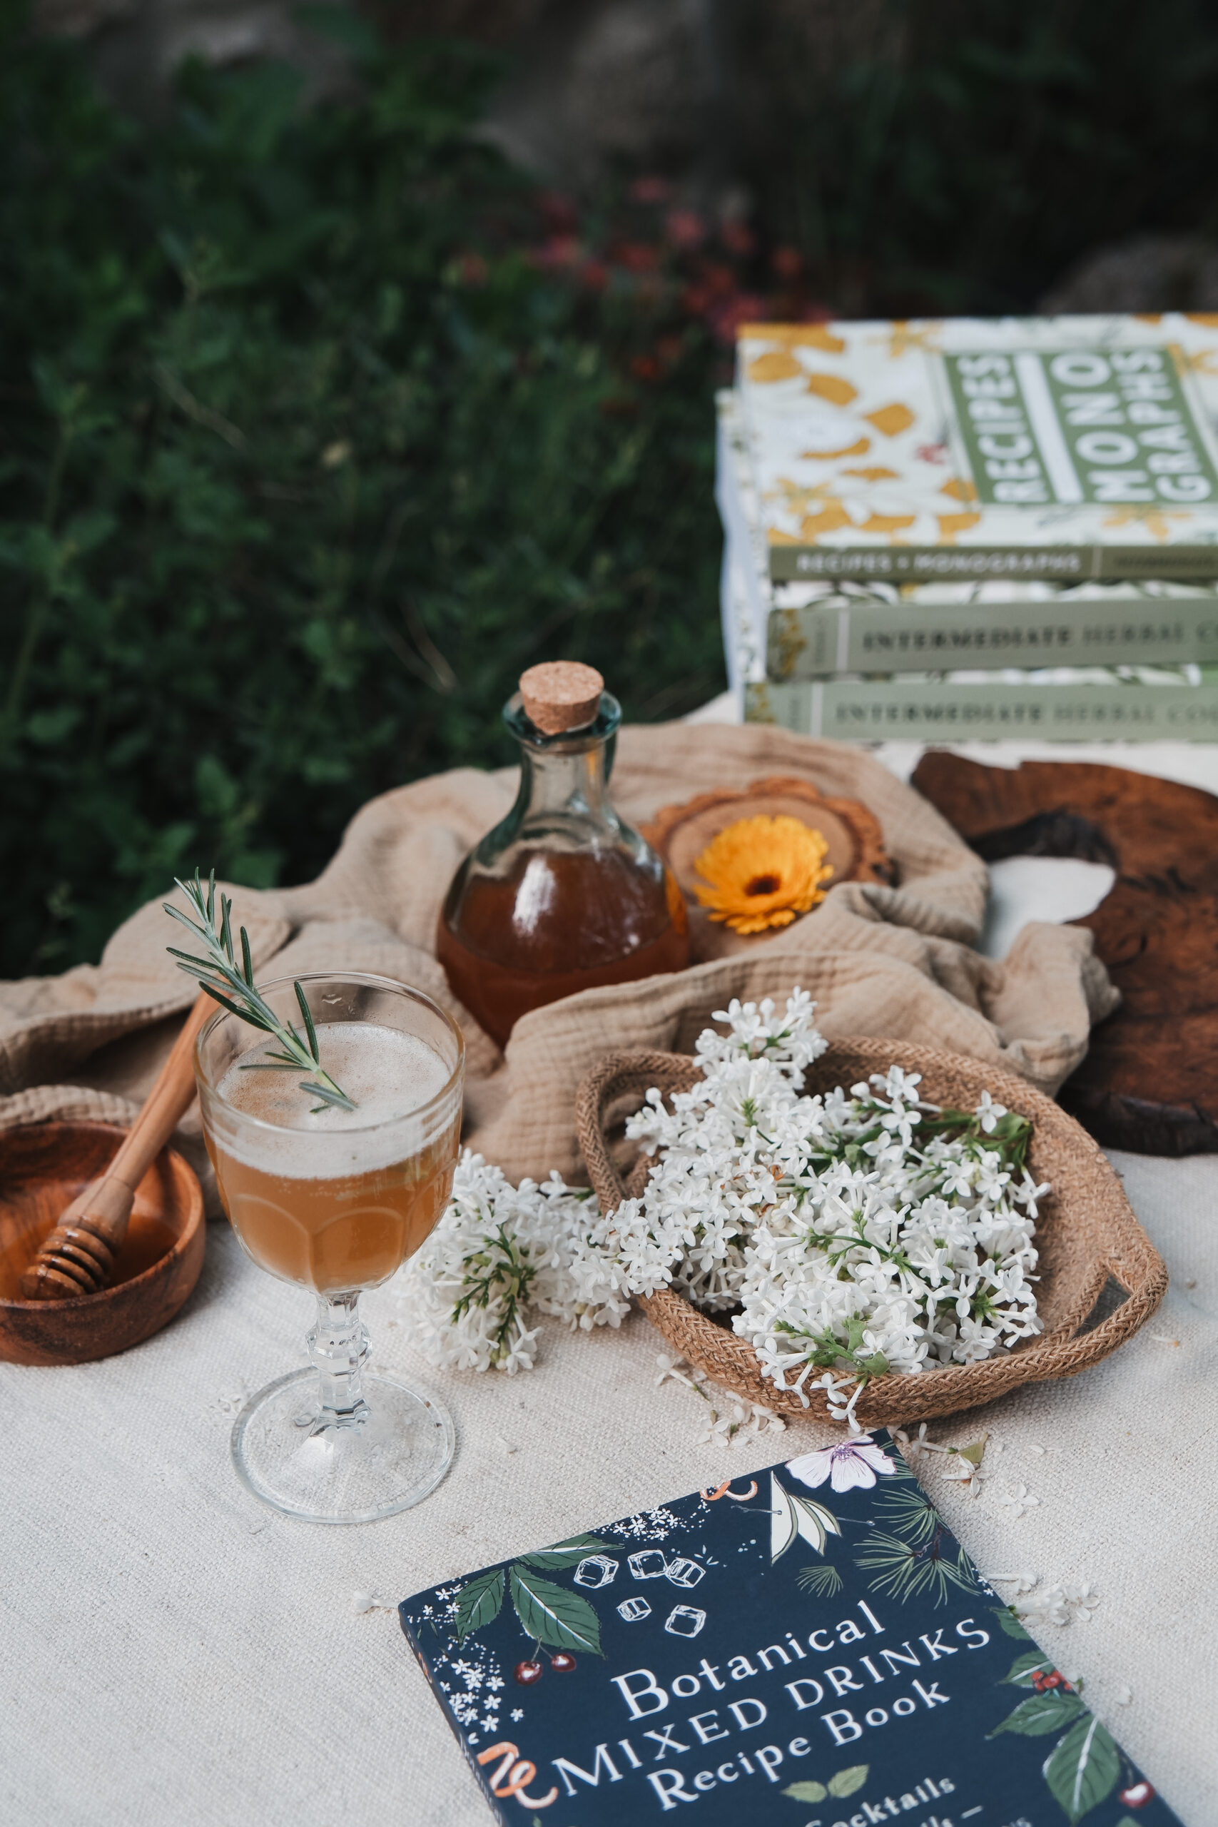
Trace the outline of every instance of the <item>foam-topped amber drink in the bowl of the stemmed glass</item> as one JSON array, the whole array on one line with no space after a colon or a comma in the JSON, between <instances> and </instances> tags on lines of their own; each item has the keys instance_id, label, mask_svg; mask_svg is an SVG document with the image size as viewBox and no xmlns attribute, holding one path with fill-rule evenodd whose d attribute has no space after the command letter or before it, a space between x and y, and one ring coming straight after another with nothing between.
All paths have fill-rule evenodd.
<instances>
[{"instance_id":1,"label":"foam-topped amber drink in the bowl of the stemmed glass","mask_svg":"<svg viewBox=\"0 0 1218 1827\"><path fill-rule=\"evenodd\" d=\"M318 1029L318 1043L356 1109L314 1113L299 1071L241 1071L265 1056L257 1043L217 1087L239 1118L214 1125L208 1153L254 1261L283 1281L340 1294L385 1281L433 1230L453 1184L460 1109L425 1120L451 1067L415 1034L334 1021Z\"/></svg>"}]
</instances>

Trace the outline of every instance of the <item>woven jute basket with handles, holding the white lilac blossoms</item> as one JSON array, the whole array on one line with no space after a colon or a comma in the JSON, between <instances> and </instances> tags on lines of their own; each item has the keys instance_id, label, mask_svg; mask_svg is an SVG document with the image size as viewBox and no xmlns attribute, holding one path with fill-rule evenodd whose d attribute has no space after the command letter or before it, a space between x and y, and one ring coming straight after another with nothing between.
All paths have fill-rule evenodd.
<instances>
[{"instance_id":1,"label":"woven jute basket with handles, holding the white lilac blossoms","mask_svg":"<svg viewBox=\"0 0 1218 1827\"><path fill-rule=\"evenodd\" d=\"M1026 1080L977 1060L913 1047L897 1040L840 1040L807 1069L803 1089L855 1085L871 1072L900 1065L920 1072L920 1094L933 1104L973 1109L981 1093L1030 1116L1030 1166L1048 1180L1052 1195L1039 1206L1037 1310L1045 1330L984 1363L950 1365L919 1376L884 1376L867 1385L856 1405L864 1427L900 1425L975 1409L1021 1383L1076 1376L1129 1339L1163 1299L1167 1268L1138 1224L1116 1173L1072 1116L1034 1091ZM690 1091L701 1078L694 1060L676 1052L612 1052L579 1087L579 1146L603 1211L614 1211L646 1184L648 1156L612 1142L614 1125L637 1111L648 1089L665 1096ZM625 1164L623 1164L625 1162ZM1110 1286L1116 1284L1116 1288ZM1110 1308L1097 1317L1097 1303ZM752 1346L730 1325L699 1314L668 1288L639 1304L665 1339L721 1389L778 1414L827 1418L822 1389L811 1389L811 1407L761 1376Z\"/></svg>"}]
</instances>

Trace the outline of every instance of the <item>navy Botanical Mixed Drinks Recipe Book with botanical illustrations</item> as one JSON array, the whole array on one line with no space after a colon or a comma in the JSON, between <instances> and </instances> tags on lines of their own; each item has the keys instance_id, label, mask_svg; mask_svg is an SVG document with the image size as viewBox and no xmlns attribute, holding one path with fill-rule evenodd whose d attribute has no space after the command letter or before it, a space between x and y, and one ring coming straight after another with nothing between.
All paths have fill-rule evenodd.
<instances>
[{"instance_id":1,"label":"navy Botanical Mixed Drinks Recipe Book with botanical illustrations","mask_svg":"<svg viewBox=\"0 0 1218 1827\"><path fill-rule=\"evenodd\" d=\"M398 1610L506 1827L1176 1822L878 1438Z\"/></svg>"}]
</instances>

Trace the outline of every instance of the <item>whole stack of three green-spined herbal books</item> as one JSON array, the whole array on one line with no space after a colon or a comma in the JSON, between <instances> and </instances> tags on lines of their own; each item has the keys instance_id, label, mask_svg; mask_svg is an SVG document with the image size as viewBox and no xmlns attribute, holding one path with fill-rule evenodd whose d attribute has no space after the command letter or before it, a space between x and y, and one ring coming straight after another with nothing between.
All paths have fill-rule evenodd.
<instances>
[{"instance_id":1,"label":"whole stack of three green-spined herbal books","mask_svg":"<svg viewBox=\"0 0 1218 1827\"><path fill-rule=\"evenodd\" d=\"M1218 740L1218 318L758 323L719 395L745 718Z\"/></svg>"}]
</instances>

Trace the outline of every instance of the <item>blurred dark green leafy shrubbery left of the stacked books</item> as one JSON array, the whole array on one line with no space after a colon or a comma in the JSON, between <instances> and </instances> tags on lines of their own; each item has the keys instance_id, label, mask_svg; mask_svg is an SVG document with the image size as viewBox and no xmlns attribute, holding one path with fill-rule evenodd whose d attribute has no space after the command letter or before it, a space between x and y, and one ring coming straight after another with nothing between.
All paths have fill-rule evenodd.
<instances>
[{"instance_id":1,"label":"blurred dark green leafy shrubbery left of the stacked books","mask_svg":"<svg viewBox=\"0 0 1218 1827\"><path fill-rule=\"evenodd\" d=\"M634 718L721 689L747 247L537 195L469 48L363 46L312 111L192 68L144 128L0 18L0 974L195 861L307 879L369 795L508 760L537 660Z\"/></svg>"}]
</instances>

